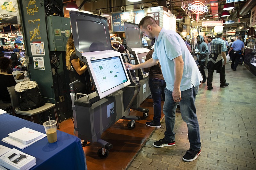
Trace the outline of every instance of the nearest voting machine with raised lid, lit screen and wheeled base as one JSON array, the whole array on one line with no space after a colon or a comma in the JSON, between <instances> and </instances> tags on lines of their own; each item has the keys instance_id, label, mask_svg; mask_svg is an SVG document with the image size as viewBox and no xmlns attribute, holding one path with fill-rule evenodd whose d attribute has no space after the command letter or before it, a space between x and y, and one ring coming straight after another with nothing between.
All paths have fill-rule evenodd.
<instances>
[{"instance_id":1,"label":"nearest voting machine with raised lid, lit screen and wheeled base","mask_svg":"<svg viewBox=\"0 0 256 170\"><path fill-rule=\"evenodd\" d=\"M69 14L76 55L86 63L96 88L96 92L74 99L75 134L109 150L112 145L100 139L101 134L121 118L138 120L128 116L129 103L123 101L123 95L132 95L128 98L133 101L139 89L129 94L121 90L129 88L133 80L130 81L121 54L112 50L107 18L78 11ZM106 157L108 151L103 149L98 156Z\"/></svg>"}]
</instances>

